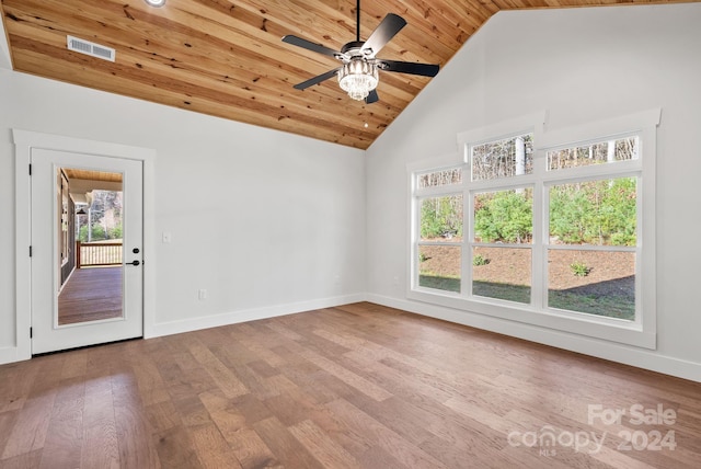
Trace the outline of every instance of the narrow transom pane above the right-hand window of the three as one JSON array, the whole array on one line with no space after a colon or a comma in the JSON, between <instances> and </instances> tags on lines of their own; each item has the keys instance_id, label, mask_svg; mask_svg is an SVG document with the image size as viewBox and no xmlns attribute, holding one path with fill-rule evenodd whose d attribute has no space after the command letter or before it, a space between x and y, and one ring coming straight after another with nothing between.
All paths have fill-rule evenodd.
<instances>
[{"instance_id":1,"label":"narrow transom pane above the right-hand window of the three","mask_svg":"<svg viewBox=\"0 0 701 469\"><path fill-rule=\"evenodd\" d=\"M613 163L616 161L636 160L639 138L628 137L618 140L599 141L583 147L571 147L548 151L548 169L586 167L589 164Z\"/></svg>"}]
</instances>

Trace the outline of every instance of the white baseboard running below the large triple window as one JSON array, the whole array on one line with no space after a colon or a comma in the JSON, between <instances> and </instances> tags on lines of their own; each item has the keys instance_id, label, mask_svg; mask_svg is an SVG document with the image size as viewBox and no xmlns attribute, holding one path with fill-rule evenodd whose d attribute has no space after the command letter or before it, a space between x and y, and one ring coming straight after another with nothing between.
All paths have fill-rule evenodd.
<instances>
[{"instance_id":1,"label":"white baseboard running below the large triple window","mask_svg":"<svg viewBox=\"0 0 701 469\"><path fill-rule=\"evenodd\" d=\"M417 314L443 319L458 324L483 329L498 334L524 339L530 342L701 382L701 363L674 358L644 348L635 348L521 322L507 321L484 314L391 298L382 295L367 294L366 300L390 308L415 312Z\"/></svg>"}]
</instances>

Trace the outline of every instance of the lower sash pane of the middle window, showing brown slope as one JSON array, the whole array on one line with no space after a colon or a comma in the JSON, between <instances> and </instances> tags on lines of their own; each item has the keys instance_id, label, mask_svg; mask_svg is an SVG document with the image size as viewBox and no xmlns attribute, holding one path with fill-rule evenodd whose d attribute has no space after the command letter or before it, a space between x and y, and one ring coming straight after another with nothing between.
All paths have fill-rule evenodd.
<instances>
[{"instance_id":1,"label":"lower sash pane of the middle window, showing brown slope","mask_svg":"<svg viewBox=\"0 0 701 469\"><path fill-rule=\"evenodd\" d=\"M531 250L472 248L472 295L530 304Z\"/></svg>"}]
</instances>

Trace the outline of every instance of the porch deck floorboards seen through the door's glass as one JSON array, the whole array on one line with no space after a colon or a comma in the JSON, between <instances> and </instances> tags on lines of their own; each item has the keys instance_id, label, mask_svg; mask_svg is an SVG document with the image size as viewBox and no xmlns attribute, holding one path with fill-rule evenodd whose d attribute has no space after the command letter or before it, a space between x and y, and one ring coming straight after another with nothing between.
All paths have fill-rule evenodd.
<instances>
[{"instance_id":1,"label":"porch deck floorboards seen through the door's glass","mask_svg":"<svg viewBox=\"0 0 701 469\"><path fill-rule=\"evenodd\" d=\"M76 268L58 295L58 323L122 317L122 267Z\"/></svg>"}]
</instances>

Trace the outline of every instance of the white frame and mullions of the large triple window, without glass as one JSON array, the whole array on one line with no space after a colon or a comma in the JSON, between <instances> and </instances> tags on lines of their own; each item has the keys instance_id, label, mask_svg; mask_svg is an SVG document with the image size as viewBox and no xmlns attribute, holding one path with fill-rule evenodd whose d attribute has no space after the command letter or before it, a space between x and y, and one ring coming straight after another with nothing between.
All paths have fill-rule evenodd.
<instances>
[{"instance_id":1,"label":"white frame and mullions of the large triple window, without glass","mask_svg":"<svg viewBox=\"0 0 701 469\"><path fill-rule=\"evenodd\" d=\"M600 119L562 129L545 129L545 113L518 117L496 125L458 135L459 151L439 160L407 165L410 178L410 268L407 298L437 306L518 321L541 328L597 338L639 347L656 348L656 261L655 261L655 160L656 131L662 110L653 108L636 114ZM470 181L471 146L501 138L533 133L533 172L507 180ZM545 170L548 150L567 148L591 141L604 141L627 136L640 136L640 158L610 164L576 169ZM418 173L462 167L462 183L418 190ZM595 314L564 311L544 307L548 295L547 253L548 187L571 181L604 178L637 176L637 244L635 252L635 320L628 321ZM472 197L475 192L509 187L533 187L533 241L531 249L531 302L517 304L499 299L472 296ZM463 193L463 241L461 245L461 293L441 291L418 286L420 199ZM577 247L573 247L575 249ZM644 249L643 249L644 248ZM597 248L598 249L598 248ZM602 249L606 250L606 249Z\"/></svg>"}]
</instances>

